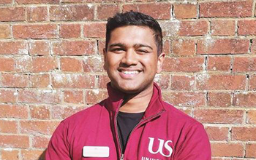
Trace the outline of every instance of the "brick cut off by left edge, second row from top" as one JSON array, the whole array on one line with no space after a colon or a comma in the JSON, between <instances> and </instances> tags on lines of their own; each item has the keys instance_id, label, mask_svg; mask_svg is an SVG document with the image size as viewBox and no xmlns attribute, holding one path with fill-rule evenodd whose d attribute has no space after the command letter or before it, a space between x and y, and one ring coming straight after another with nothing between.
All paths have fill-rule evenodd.
<instances>
[{"instance_id":1,"label":"brick cut off by left edge, second row from top","mask_svg":"<svg viewBox=\"0 0 256 160\"><path fill-rule=\"evenodd\" d=\"M24 21L25 8L24 7L0 7L0 21Z\"/></svg>"}]
</instances>

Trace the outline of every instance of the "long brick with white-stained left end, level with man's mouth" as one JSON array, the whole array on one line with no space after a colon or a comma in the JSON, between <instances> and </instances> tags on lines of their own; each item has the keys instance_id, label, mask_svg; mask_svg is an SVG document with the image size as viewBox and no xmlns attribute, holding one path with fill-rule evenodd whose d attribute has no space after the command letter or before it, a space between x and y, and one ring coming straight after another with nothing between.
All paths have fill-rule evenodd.
<instances>
[{"instance_id":1,"label":"long brick with white-stained left end, level with man's mouth","mask_svg":"<svg viewBox=\"0 0 256 160\"><path fill-rule=\"evenodd\" d=\"M200 90L244 90L246 85L244 75L200 73L196 80Z\"/></svg>"}]
</instances>

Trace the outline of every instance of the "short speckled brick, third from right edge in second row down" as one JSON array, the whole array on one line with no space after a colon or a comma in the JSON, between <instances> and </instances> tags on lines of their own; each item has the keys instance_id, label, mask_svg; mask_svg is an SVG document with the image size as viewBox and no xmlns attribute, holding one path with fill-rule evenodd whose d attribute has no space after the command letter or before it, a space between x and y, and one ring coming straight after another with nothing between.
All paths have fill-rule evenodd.
<instances>
[{"instance_id":1,"label":"short speckled brick, third from right edge in second row down","mask_svg":"<svg viewBox=\"0 0 256 160\"><path fill-rule=\"evenodd\" d=\"M181 21L178 36L203 36L208 33L208 28L206 20Z\"/></svg>"}]
</instances>

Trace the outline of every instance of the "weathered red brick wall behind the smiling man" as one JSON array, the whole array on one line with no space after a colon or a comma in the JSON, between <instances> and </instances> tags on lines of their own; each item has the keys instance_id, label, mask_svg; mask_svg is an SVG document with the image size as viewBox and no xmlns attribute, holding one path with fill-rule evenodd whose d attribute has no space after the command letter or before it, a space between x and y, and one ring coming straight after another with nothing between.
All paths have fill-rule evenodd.
<instances>
[{"instance_id":1,"label":"weathered red brick wall behind the smiling man","mask_svg":"<svg viewBox=\"0 0 256 160\"><path fill-rule=\"evenodd\" d=\"M212 159L256 159L255 0L0 0L1 160L42 159L61 119L107 96L105 23L130 9L162 25L156 81L205 125Z\"/></svg>"}]
</instances>

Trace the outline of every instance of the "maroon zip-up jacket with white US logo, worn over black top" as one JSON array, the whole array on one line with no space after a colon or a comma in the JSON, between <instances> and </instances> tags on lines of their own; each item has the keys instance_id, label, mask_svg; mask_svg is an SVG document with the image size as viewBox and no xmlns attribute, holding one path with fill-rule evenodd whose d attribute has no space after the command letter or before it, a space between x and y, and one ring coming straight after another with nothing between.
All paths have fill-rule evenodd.
<instances>
[{"instance_id":1,"label":"maroon zip-up jacket with white US logo, worn over black top","mask_svg":"<svg viewBox=\"0 0 256 160\"><path fill-rule=\"evenodd\" d=\"M51 137L46 160L211 160L203 125L154 94L140 123L132 130L124 155L118 140L116 116L124 95L110 87L109 97L59 124ZM83 146L106 146L107 158L83 157Z\"/></svg>"}]
</instances>

